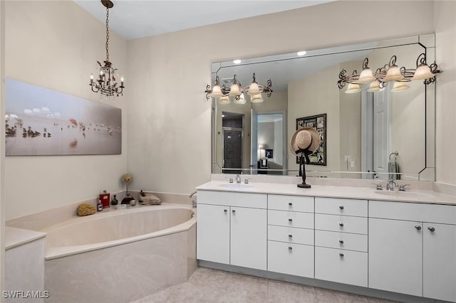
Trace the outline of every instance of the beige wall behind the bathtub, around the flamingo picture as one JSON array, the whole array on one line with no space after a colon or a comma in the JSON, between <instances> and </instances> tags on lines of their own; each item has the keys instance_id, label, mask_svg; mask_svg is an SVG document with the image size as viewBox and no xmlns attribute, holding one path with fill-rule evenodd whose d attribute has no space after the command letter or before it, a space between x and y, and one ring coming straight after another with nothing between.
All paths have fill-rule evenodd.
<instances>
[{"instance_id":1,"label":"beige wall behind the bathtub, around the flamingo picture","mask_svg":"<svg viewBox=\"0 0 456 303\"><path fill-rule=\"evenodd\" d=\"M96 60L106 58L105 24L73 1L5 4L6 77L98 102L88 83ZM129 89L126 41L113 32L109 41L110 60ZM128 93L114 105L123 109L121 155L6 157L1 192L7 219L95 198L103 189L124 189L120 176L127 170Z\"/></svg>"}]
</instances>

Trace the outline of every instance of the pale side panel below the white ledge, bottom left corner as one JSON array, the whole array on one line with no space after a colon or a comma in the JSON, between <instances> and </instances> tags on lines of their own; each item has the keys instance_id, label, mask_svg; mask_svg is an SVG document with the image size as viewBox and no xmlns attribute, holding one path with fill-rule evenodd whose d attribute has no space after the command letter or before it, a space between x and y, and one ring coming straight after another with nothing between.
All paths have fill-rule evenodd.
<instances>
[{"instance_id":1,"label":"pale side panel below the white ledge, bottom left corner","mask_svg":"<svg viewBox=\"0 0 456 303\"><path fill-rule=\"evenodd\" d=\"M16 246L5 253L5 290L33 291L44 295L44 238ZM44 302L43 298L6 299L6 302Z\"/></svg>"}]
</instances>

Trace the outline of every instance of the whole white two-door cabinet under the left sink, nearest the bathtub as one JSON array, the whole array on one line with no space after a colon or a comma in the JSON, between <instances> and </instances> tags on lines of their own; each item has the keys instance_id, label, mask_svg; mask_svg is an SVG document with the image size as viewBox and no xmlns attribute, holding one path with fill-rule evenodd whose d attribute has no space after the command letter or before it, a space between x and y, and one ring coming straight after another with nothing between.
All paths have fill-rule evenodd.
<instances>
[{"instance_id":1,"label":"whole white two-door cabinet under the left sink, nearest the bathtub","mask_svg":"<svg viewBox=\"0 0 456 303\"><path fill-rule=\"evenodd\" d=\"M198 191L197 259L266 270L266 194Z\"/></svg>"}]
</instances>

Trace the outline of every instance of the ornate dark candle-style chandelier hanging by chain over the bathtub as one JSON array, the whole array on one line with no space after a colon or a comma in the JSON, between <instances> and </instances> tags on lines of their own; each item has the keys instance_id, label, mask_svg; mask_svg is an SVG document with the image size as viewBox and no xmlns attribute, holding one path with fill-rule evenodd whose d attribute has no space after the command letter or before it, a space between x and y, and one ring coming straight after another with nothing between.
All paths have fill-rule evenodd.
<instances>
[{"instance_id":1,"label":"ornate dark candle-style chandelier hanging by chain over the bathtub","mask_svg":"<svg viewBox=\"0 0 456 303\"><path fill-rule=\"evenodd\" d=\"M90 75L90 87L93 92L100 92L101 95L105 96L114 96L123 95L123 78L120 78L120 85L117 82L118 75L115 74L117 68L113 68L113 63L110 63L109 60L109 9L113 8L114 4L110 0L101 0L101 3L106 8L106 60L103 61L105 65L101 65L100 61L97 61L100 65L100 73L98 74L98 79L93 79L93 74Z\"/></svg>"}]
</instances>

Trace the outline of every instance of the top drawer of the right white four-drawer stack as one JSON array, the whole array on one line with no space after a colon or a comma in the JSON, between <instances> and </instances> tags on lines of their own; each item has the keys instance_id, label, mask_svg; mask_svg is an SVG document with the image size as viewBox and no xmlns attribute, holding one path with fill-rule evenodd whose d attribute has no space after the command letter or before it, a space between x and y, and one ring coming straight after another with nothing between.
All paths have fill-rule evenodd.
<instances>
[{"instance_id":1,"label":"top drawer of the right white four-drawer stack","mask_svg":"<svg viewBox=\"0 0 456 303\"><path fill-rule=\"evenodd\" d=\"M368 216L368 201L343 198L315 198L315 212L330 215Z\"/></svg>"}]
</instances>

